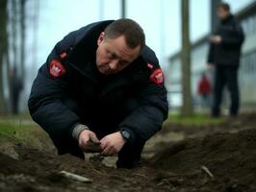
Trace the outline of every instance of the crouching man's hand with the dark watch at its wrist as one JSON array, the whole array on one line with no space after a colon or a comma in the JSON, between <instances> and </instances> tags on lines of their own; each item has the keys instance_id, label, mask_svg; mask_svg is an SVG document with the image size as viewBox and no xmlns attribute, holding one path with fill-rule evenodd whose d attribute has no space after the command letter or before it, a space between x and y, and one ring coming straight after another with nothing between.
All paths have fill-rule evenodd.
<instances>
[{"instance_id":1,"label":"crouching man's hand with the dark watch at its wrist","mask_svg":"<svg viewBox=\"0 0 256 192\"><path fill-rule=\"evenodd\" d=\"M100 147L103 150L102 155L113 156L122 149L126 143L126 139L123 138L121 132L114 132L103 137L100 143Z\"/></svg>"}]
</instances>

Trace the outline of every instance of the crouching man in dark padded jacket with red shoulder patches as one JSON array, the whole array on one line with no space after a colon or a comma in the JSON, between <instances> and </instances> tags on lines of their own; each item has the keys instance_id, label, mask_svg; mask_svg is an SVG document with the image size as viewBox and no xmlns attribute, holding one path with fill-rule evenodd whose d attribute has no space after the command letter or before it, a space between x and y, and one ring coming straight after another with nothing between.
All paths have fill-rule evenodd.
<instances>
[{"instance_id":1,"label":"crouching man in dark padded jacket with red shoulder patches","mask_svg":"<svg viewBox=\"0 0 256 192\"><path fill-rule=\"evenodd\" d=\"M59 155L118 155L139 166L144 143L167 117L163 72L131 19L92 23L58 42L39 68L28 102Z\"/></svg>"}]
</instances>

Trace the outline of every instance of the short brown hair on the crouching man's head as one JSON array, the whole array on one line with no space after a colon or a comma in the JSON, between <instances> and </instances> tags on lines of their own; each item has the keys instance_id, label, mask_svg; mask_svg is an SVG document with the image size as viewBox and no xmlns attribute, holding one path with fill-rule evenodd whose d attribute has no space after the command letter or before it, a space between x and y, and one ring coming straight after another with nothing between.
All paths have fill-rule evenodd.
<instances>
[{"instance_id":1,"label":"short brown hair on the crouching man's head","mask_svg":"<svg viewBox=\"0 0 256 192\"><path fill-rule=\"evenodd\" d=\"M107 38L117 38L124 36L127 45L130 48L136 48L140 45L141 50L145 46L145 35L141 26L134 20L121 18L115 20L105 29Z\"/></svg>"}]
</instances>

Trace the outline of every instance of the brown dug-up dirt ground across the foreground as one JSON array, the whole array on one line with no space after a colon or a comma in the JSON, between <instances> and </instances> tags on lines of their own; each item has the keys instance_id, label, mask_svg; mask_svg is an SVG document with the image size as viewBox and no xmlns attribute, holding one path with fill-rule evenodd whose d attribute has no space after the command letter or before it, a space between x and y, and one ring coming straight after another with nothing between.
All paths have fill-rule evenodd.
<instances>
[{"instance_id":1,"label":"brown dug-up dirt ground across the foreground","mask_svg":"<svg viewBox=\"0 0 256 192\"><path fill-rule=\"evenodd\" d=\"M56 156L45 135L40 142L0 143L0 191L256 191L255 113L218 125L166 123L135 170L115 169L115 157ZM63 170L92 181L66 179Z\"/></svg>"}]
</instances>

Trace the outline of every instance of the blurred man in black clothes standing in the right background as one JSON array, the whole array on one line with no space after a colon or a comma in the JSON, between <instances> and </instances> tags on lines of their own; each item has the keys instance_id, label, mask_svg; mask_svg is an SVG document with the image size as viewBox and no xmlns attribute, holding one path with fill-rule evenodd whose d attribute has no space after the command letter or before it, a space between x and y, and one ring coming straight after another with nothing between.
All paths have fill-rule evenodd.
<instances>
[{"instance_id":1,"label":"blurred man in black clothes standing in the right background","mask_svg":"<svg viewBox=\"0 0 256 192\"><path fill-rule=\"evenodd\" d=\"M230 115L236 116L240 107L238 69L244 40L243 29L227 3L218 4L217 14L220 22L215 34L210 36L208 55L209 68L216 68L212 115L220 115L222 91L227 85L231 97Z\"/></svg>"}]
</instances>

